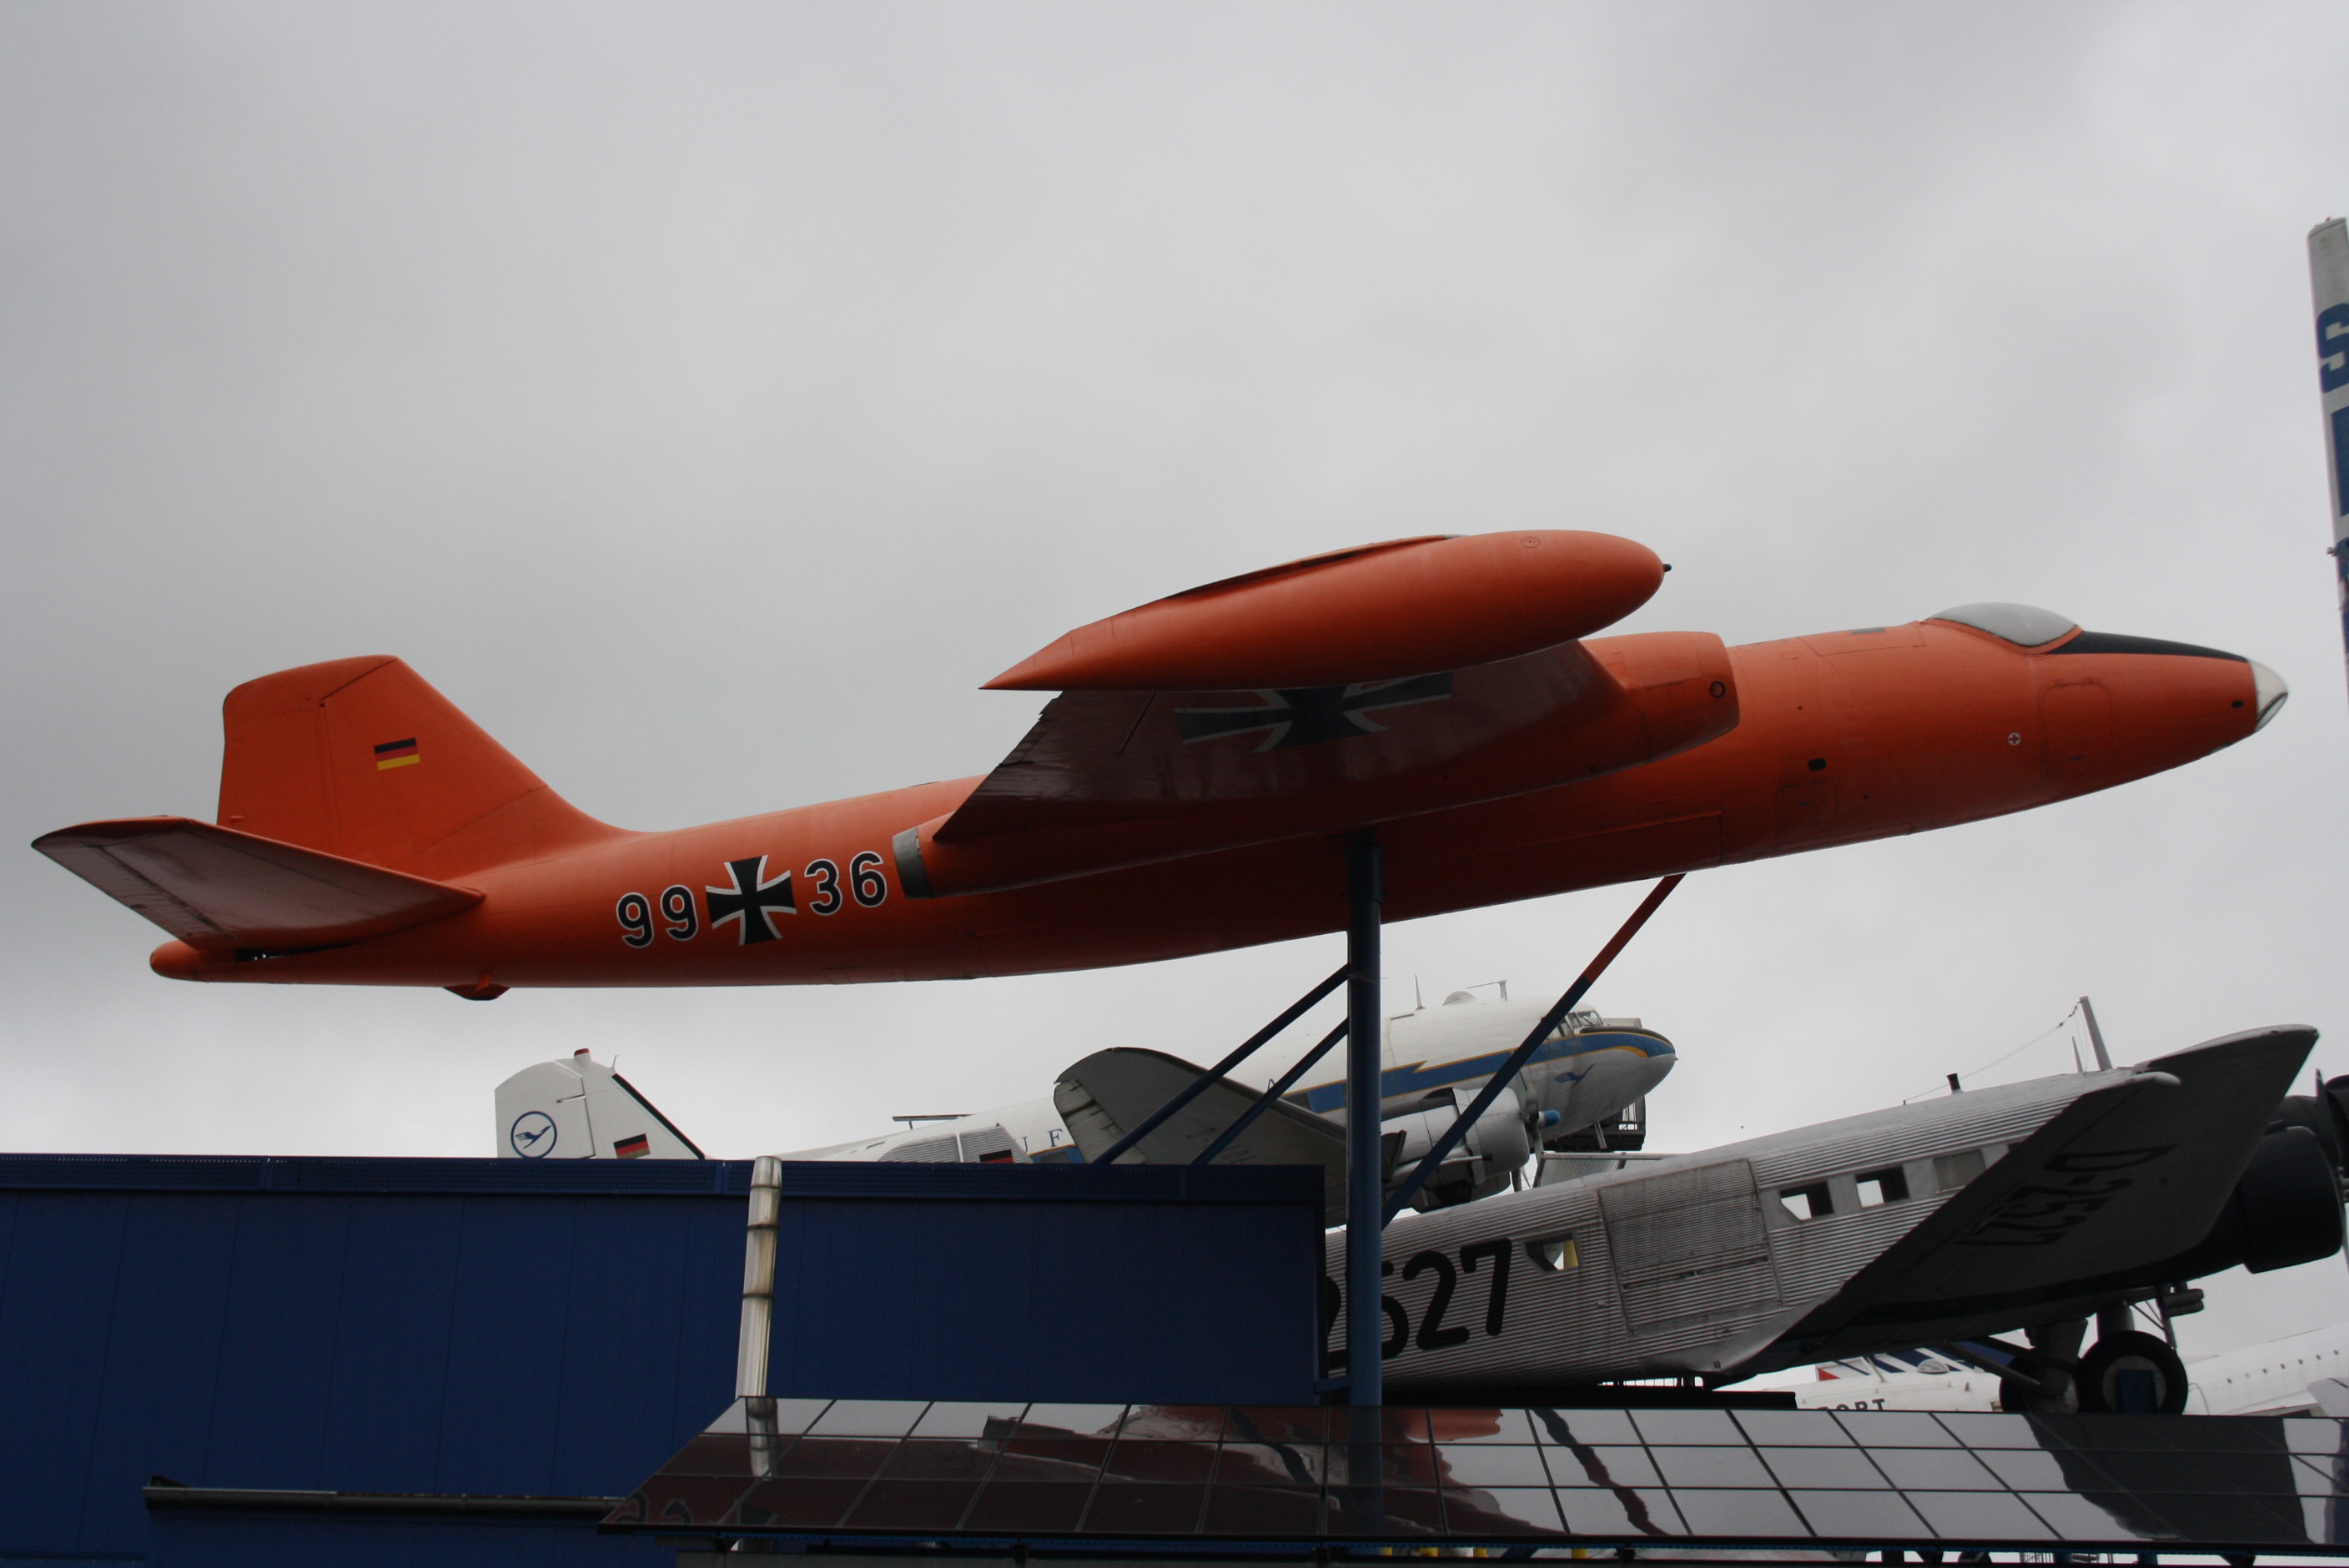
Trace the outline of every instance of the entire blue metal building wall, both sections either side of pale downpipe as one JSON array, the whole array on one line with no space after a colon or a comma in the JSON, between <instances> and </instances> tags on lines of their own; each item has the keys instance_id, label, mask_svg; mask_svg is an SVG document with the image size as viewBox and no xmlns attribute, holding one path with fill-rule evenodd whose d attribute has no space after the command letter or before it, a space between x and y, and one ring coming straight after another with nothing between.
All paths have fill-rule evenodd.
<instances>
[{"instance_id":1,"label":"entire blue metal building wall, both sections either side of pale downpipe","mask_svg":"<svg viewBox=\"0 0 2349 1568\"><path fill-rule=\"evenodd\" d=\"M733 1397L749 1162L0 1155L0 1568L667 1563L580 1523L148 1514L625 1495ZM1311 1401L1320 1174L785 1164L770 1387Z\"/></svg>"}]
</instances>

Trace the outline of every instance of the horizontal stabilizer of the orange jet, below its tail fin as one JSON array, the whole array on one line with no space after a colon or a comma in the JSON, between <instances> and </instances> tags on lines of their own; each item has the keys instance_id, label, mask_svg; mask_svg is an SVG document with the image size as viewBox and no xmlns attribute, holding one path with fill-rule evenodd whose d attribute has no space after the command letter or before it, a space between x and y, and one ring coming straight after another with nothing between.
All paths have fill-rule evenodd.
<instances>
[{"instance_id":1,"label":"horizontal stabilizer of the orange jet, below its tail fin","mask_svg":"<svg viewBox=\"0 0 2349 1568\"><path fill-rule=\"evenodd\" d=\"M85 822L33 847L190 948L324 948L439 920L482 901L364 861L188 817Z\"/></svg>"}]
</instances>

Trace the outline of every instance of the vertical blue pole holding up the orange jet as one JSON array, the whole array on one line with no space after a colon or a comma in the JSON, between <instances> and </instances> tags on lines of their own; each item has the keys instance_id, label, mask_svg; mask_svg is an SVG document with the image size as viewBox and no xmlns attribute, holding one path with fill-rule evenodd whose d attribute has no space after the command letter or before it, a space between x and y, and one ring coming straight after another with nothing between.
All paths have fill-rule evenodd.
<instances>
[{"instance_id":1,"label":"vertical blue pole holding up the orange jet","mask_svg":"<svg viewBox=\"0 0 2349 1568\"><path fill-rule=\"evenodd\" d=\"M1346 1404L1386 1401L1379 1277L1386 1228L1379 1160L1379 840L1346 840Z\"/></svg>"}]
</instances>

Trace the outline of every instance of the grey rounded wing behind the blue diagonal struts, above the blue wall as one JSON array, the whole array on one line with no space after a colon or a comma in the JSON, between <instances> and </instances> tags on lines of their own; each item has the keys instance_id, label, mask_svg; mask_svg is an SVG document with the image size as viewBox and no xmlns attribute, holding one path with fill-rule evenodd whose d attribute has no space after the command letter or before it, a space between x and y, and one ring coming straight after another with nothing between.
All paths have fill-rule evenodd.
<instances>
[{"instance_id":1,"label":"grey rounded wing behind the blue diagonal struts, above the blue wall","mask_svg":"<svg viewBox=\"0 0 2349 1568\"><path fill-rule=\"evenodd\" d=\"M1052 1103L1059 1108L1069 1136L1076 1138L1078 1153L1097 1162L1125 1136L1128 1127L1142 1124L1144 1117L1198 1082L1203 1073L1205 1068L1196 1068L1182 1056L1113 1047L1064 1070L1052 1084ZM1125 1160L1139 1155L1142 1164L1189 1164L1254 1101L1254 1089L1224 1080L1156 1127ZM1318 1164L1327 1223L1337 1225L1346 1216L1346 1131L1311 1110L1273 1101L1214 1160L1217 1164Z\"/></svg>"}]
</instances>

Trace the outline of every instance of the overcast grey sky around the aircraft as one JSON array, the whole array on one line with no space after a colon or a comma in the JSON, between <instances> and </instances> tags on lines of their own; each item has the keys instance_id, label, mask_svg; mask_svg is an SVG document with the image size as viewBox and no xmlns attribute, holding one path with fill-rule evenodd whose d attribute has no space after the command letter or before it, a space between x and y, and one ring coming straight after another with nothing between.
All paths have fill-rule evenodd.
<instances>
[{"instance_id":1,"label":"overcast grey sky around the aircraft","mask_svg":"<svg viewBox=\"0 0 2349 1568\"><path fill-rule=\"evenodd\" d=\"M1059 631L1402 533L1623 533L1626 629L2020 599L2297 688L2175 775L1705 873L1595 1002L1658 1141L1875 1108L2091 993L2349 1073L2307 228L2340 5L0 9L5 833L209 817L237 681L397 653L580 807L989 768ZM1562 986L1637 899L1398 925ZM491 1153L592 1047L723 1155L1212 1056L1337 939L1017 981L197 988L0 847L0 1145ZM1997 1075L2069 1068L2055 1035ZM2342 1317L2222 1282L2187 1347Z\"/></svg>"}]
</instances>

